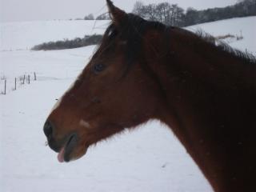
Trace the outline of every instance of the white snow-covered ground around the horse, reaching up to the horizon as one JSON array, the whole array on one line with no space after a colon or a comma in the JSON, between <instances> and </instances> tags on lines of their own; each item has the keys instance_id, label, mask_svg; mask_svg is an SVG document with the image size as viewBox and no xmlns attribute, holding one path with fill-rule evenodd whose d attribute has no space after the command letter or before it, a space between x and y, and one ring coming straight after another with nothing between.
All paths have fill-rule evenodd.
<instances>
[{"instance_id":1,"label":"white snow-covered ground around the horse, reaching up to the horizon","mask_svg":"<svg viewBox=\"0 0 256 192\"><path fill-rule=\"evenodd\" d=\"M73 21L74 22L74 21ZM45 146L42 126L56 98L70 86L93 54L95 46L73 50L30 51L34 44L92 32L94 22L22 22L1 24L0 191L212 191L174 134L159 122L149 122L91 147L86 156L60 164ZM230 45L256 53L256 17L234 18L198 26L210 34L240 34ZM55 26L56 25L56 26ZM57 27L57 26L62 27ZM106 26L96 23L96 26ZM94 29L95 30L95 29ZM17 50L21 49L21 50ZM12 79L36 72L38 81L19 85Z\"/></svg>"}]
</instances>

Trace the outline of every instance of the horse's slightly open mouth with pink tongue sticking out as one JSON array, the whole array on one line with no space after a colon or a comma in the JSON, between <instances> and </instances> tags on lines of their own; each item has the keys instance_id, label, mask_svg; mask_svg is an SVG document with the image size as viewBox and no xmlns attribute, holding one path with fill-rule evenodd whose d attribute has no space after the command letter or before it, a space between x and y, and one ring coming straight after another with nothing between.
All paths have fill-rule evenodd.
<instances>
[{"instance_id":1,"label":"horse's slightly open mouth with pink tongue sticking out","mask_svg":"<svg viewBox=\"0 0 256 192\"><path fill-rule=\"evenodd\" d=\"M78 143L78 135L71 134L70 137L67 139L67 142L64 146L62 146L61 150L58 153L58 162L70 162L71 154L74 150L74 147Z\"/></svg>"}]
</instances>

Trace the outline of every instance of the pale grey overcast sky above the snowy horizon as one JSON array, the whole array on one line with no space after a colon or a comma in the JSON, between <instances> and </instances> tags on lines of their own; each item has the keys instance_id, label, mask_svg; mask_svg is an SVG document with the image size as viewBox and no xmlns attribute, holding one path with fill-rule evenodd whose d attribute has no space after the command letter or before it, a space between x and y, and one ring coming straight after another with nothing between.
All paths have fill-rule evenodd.
<instances>
[{"instance_id":1,"label":"pale grey overcast sky above the snowy horizon","mask_svg":"<svg viewBox=\"0 0 256 192\"><path fill-rule=\"evenodd\" d=\"M112 0L114 5L130 12L136 0ZM186 10L229 6L237 0L142 0L145 4L156 2L177 3ZM83 18L86 14L98 16L106 12L105 0L0 0L0 22Z\"/></svg>"}]
</instances>

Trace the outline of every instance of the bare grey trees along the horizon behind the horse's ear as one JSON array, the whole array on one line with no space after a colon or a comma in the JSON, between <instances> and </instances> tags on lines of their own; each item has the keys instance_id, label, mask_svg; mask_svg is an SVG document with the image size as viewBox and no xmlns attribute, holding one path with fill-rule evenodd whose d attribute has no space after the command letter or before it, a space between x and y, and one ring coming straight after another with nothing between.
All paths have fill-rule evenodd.
<instances>
[{"instance_id":1,"label":"bare grey trees along the horizon behind the horse's ear","mask_svg":"<svg viewBox=\"0 0 256 192\"><path fill-rule=\"evenodd\" d=\"M177 4L170 4L169 2L145 5L143 2L137 1L132 12L147 20L162 22L168 26L182 27L227 18L256 15L256 0L238 0L233 6L206 10L196 10L193 7L184 10ZM88 14L84 19L109 20L110 17L107 13L99 15L97 18L94 18L93 14Z\"/></svg>"}]
</instances>

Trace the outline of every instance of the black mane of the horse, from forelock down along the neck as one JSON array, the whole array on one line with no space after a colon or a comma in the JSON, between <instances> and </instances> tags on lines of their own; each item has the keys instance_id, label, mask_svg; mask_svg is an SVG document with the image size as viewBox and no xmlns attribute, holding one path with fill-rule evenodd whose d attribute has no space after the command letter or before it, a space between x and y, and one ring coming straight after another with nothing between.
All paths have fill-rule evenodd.
<instances>
[{"instance_id":1,"label":"black mane of the horse, from forelock down along the neck","mask_svg":"<svg viewBox=\"0 0 256 192\"><path fill-rule=\"evenodd\" d=\"M205 42L206 44L214 48L214 50L230 54L231 57L237 58L243 63L256 64L256 58L253 54L237 50L228 45L226 42L218 40L217 38L214 38L212 35L207 34L202 30L198 30L193 33L189 30L185 30L182 28L166 26L161 22L146 21L145 19L135 14L127 14L126 21L124 21L121 26L118 26L118 28L114 25L113 22L111 22L110 26L108 26L106 29L106 33L103 35L101 44L105 44L105 50L113 51L115 46L113 42L114 38L117 35L120 35L121 39L124 42L127 42L125 51L125 71L127 72L127 70L130 69L130 66L132 66L138 56L142 54L142 40L147 30L157 30L158 32L165 35L165 37L167 38L168 35L172 35L172 30L180 30L181 32L185 32L186 34L189 34L191 36L197 36L198 38L196 41L198 42L194 41L195 44Z\"/></svg>"}]
</instances>

